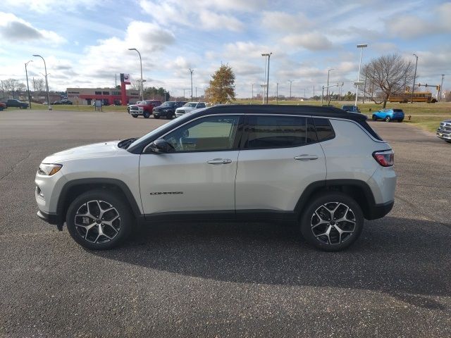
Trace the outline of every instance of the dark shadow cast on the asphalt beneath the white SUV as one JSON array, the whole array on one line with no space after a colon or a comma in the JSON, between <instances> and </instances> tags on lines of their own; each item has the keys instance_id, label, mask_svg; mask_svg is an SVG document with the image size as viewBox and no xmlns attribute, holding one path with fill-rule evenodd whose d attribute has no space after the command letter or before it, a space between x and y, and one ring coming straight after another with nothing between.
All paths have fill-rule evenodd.
<instances>
[{"instance_id":1,"label":"dark shadow cast on the asphalt beneath the white SUV","mask_svg":"<svg viewBox=\"0 0 451 338\"><path fill-rule=\"evenodd\" d=\"M424 308L449 296L449 229L426 220L366 222L362 237L322 252L297 227L264 223L158 224L125 246L94 254L145 268L225 282L367 289Z\"/></svg>"}]
</instances>

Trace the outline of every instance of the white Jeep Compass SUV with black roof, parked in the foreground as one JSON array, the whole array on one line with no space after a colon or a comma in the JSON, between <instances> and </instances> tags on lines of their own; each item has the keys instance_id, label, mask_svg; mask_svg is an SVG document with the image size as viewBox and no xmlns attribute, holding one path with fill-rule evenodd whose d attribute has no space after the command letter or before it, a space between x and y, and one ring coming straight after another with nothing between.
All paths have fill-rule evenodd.
<instances>
[{"instance_id":1,"label":"white Jeep Compass SUV with black roof, parked in the foreground","mask_svg":"<svg viewBox=\"0 0 451 338\"><path fill-rule=\"evenodd\" d=\"M139 139L44 158L40 218L110 249L135 225L176 220L296 222L326 251L393 207L393 151L366 117L316 106L215 106Z\"/></svg>"}]
</instances>

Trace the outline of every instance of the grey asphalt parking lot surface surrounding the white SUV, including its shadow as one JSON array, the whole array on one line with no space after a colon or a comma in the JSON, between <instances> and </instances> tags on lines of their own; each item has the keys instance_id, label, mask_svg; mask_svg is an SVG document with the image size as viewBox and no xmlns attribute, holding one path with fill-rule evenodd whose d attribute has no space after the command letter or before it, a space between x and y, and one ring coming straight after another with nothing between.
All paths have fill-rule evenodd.
<instances>
[{"instance_id":1,"label":"grey asphalt parking lot surface surrounding the white SUV, including its shadow","mask_svg":"<svg viewBox=\"0 0 451 338\"><path fill-rule=\"evenodd\" d=\"M341 253L292 227L159 224L82 249L36 216L42 159L165 120L0 112L1 337L450 337L451 144L373 123L395 150L393 211Z\"/></svg>"}]
</instances>

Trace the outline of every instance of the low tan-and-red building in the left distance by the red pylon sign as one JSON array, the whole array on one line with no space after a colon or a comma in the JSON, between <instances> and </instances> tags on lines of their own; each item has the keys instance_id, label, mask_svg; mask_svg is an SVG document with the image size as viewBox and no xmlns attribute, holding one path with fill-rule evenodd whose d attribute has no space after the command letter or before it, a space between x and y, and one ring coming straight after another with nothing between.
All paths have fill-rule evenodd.
<instances>
[{"instance_id":1,"label":"low tan-and-red building in the left distance by the red pylon sign","mask_svg":"<svg viewBox=\"0 0 451 338\"><path fill-rule=\"evenodd\" d=\"M102 100L104 106L110 104L122 104L121 89L116 88L68 88L68 100L73 104L91 105L95 100ZM140 99L140 92L134 89L127 89L127 102L132 103Z\"/></svg>"}]
</instances>

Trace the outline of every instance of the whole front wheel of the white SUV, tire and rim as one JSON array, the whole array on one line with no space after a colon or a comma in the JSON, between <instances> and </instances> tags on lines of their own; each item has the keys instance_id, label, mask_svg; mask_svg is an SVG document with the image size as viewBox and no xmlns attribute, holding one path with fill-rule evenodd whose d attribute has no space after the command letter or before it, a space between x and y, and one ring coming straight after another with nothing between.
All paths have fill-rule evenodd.
<instances>
[{"instance_id":1,"label":"whole front wheel of the white SUV, tire and rim","mask_svg":"<svg viewBox=\"0 0 451 338\"><path fill-rule=\"evenodd\" d=\"M132 230L132 213L122 199L106 190L91 190L69 206L70 236L87 249L105 250L121 244Z\"/></svg>"}]
</instances>

